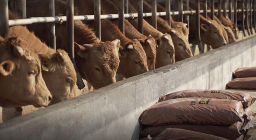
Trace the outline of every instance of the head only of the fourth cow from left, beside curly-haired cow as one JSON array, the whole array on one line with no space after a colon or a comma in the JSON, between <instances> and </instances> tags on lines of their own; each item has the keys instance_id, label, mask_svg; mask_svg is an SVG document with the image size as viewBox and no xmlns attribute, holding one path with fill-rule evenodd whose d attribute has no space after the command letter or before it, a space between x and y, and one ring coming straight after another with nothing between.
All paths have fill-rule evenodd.
<instances>
[{"instance_id":1,"label":"head only of the fourth cow from left, beside curly-haired cow","mask_svg":"<svg viewBox=\"0 0 256 140\"><path fill-rule=\"evenodd\" d=\"M146 53L137 39L130 41L120 51L118 72L129 78L148 71Z\"/></svg>"}]
</instances>

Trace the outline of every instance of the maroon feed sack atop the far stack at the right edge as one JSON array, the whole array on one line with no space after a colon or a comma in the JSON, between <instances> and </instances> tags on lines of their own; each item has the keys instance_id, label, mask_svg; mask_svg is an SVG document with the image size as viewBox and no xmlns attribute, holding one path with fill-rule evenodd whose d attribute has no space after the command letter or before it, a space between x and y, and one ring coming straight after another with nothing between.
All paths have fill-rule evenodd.
<instances>
[{"instance_id":1,"label":"maroon feed sack atop the far stack at the right edge","mask_svg":"<svg viewBox=\"0 0 256 140\"><path fill-rule=\"evenodd\" d=\"M256 67L238 68L233 74L235 78L256 77Z\"/></svg>"}]
</instances>

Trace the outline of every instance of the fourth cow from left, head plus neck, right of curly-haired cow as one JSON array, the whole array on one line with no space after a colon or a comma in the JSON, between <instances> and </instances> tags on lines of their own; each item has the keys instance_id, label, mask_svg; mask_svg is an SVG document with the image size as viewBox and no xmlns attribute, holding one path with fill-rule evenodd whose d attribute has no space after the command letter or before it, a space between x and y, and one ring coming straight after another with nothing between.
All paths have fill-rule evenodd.
<instances>
[{"instance_id":1,"label":"fourth cow from left, head plus neck, right of curly-haired cow","mask_svg":"<svg viewBox=\"0 0 256 140\"><path fill-rule=\"evenodd\" d=\"M148 71L146 53L137 39L126 38L121 31L110 20L101 21L102 40L118 38L121 41L122 49L119 52L120 64L118 72L129 78Z\"/></svg>"}]
</instances>

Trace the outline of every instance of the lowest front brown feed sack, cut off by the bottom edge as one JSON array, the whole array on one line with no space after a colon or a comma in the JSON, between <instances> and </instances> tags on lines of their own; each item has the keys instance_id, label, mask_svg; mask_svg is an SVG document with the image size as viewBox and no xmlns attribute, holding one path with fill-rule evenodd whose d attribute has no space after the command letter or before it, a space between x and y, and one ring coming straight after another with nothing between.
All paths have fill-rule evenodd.
<instances>
[{"instance_id":1,"label":"lowest front brown feed sack, cut off by the bottom edge","mask_svg":"<svg viewBox=\"0 0 256 140\"><path fill-rule=\"evenodd\" d=\"M194 132L190 130L167 128L154 140L228 140L218 136Z\"/></svg>"}]
</instances>

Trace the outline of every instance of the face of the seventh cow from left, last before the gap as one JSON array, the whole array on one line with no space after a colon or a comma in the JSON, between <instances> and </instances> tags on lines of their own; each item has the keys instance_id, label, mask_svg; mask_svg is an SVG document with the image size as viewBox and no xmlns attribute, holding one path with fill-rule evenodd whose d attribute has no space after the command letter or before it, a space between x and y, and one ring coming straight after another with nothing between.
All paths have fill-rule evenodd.
<instances>
[{"instance_id":1,"label":"face of the seventh cow from left, last before the gap","mask_svg":"<svg viewBox=\"0 0 256 140\"><path fill-rule=\"evenodd\" d=\"M193 56L188 44L188 39L180 29L173 28L170 35L172 36L175 49L175 61L180 61Z\"/></svg>"}]
</instances>

